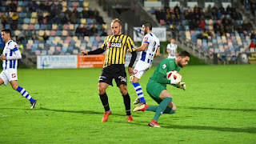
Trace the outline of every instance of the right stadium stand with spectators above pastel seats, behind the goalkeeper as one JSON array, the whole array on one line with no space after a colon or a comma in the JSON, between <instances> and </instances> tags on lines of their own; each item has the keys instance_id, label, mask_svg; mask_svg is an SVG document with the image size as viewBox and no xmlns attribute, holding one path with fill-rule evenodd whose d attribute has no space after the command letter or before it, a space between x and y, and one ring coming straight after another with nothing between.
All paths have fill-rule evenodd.
<instances>
[{"instance_id":1,"label":"right stadium stand with spectators above pastel seats, behind the goalkeeper","mask_svg":"<svg viewBox=\"0 0 256 144\"><path fill-rule=\"evenodd\" d=\"M223 62L235 61L241 52L255 51L255 48L249 49L250 42L256 40L252 22L243 20L242 14L230 4L225 8L217 7L213 2L201 8L196 2L190 4L193 8L182 9L178 3L175 4L171 8L165 6L158 9L152 6L147 10L167 30L178 31L183 38L196 43L210 56L218 53ZM253 5L251 3L250 7Z\"/></svg>"}]
</instances>

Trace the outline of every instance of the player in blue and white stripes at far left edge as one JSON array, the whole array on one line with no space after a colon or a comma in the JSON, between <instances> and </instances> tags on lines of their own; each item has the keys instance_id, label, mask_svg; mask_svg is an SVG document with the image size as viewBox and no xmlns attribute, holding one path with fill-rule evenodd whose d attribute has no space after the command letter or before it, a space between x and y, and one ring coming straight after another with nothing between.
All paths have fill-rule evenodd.
<instances>
[{"instance_id":1,"label":"player in blue and white stripes at far left edge","mask_svg":"<svg viewBox=\"0 0 256 144\"><path fill-rule=\"evenodd\" d=\"M33 109L37 101L34 100L34 98L32 98L25 89L23 89L21 86L18 86L17 65L18 59L22 58L22 54L18 50L17 43L14 42L10 36L10 29L2 30L2 40L6 42L6 46L1 54L3 70L0 74L0 86L2 84L7 86L10 82L10 85L14 90L17 90L20 94L22 94L23 97L30 100L30 108Z\"/></svg>"}]
</instances>

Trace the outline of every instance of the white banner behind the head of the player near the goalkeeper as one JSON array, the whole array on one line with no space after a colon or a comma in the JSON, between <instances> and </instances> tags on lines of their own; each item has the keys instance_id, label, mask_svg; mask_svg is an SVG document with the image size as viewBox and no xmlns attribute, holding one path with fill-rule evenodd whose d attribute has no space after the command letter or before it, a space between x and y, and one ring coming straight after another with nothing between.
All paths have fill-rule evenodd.
<instances>
[{"instance_id":1,"label":"white banner behind the head of the player near the goalkeeper","mask_svg":"<svg viewBox=\"0 0 256 144\"><path fill-rule=\"evenodd\" d=\"M153 27L152 32L158 37L160 42L166 42L166 28L165 27ZM142 42L144 38L144 32L142 27L134 27L134 42Z\"/></svg>"}]
</instances>

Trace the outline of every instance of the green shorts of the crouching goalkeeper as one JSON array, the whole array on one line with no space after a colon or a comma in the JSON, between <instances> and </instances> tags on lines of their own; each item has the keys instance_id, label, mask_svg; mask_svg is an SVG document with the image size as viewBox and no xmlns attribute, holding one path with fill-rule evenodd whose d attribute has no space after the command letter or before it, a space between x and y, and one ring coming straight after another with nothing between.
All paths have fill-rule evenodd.
<instances>
[{"instance_id":1,"label":"green shorts of the crouching goalkeeper","mask_svg":"<svg viewBox=\"0 0 256 144\"><path fill-rule=\"evenodd\" d=\"M162 84L155 82L152 79L147 82L146 92L150 94L150 97L153 98L155 102L158 102L158 104L162 102L162 99L159 98L162 90L166 90L166 87L162 86Z\"/></svg>"}]
</instances>

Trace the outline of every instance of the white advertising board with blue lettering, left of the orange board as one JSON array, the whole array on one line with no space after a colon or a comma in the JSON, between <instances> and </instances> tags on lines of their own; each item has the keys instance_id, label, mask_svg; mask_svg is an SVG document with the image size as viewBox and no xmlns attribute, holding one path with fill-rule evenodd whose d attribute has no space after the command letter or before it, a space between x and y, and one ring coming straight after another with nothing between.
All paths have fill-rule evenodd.
<instances>
[{"instance_id":1,"label":"white advertising board with blue lettering, left of the orange board","mask_svg":"<svg viewBox=\"0 0 256 144\"><path fill-rule=\"evenodd\" d=\"M77 68L77 55L40 55L37 56L38 69L66 69Z\"/></svg>"}]
</instances>

